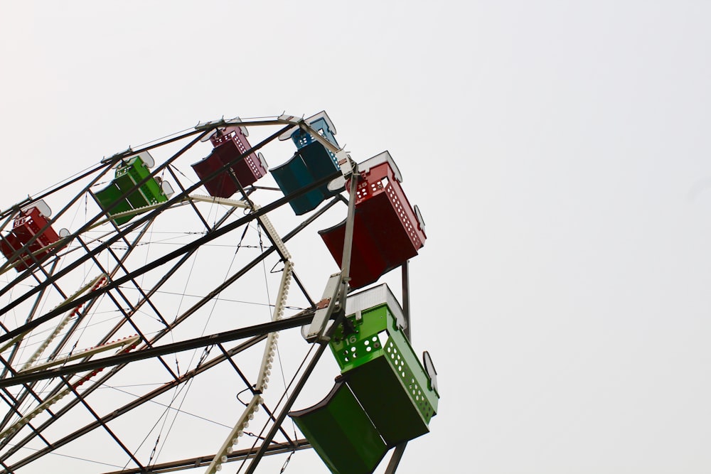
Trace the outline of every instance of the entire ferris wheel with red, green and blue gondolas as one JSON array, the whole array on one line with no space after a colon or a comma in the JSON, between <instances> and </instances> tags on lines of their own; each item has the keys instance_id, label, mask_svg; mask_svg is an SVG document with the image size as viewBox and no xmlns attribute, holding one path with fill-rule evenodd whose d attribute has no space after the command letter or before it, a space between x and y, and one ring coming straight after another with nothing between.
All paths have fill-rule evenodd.
<instances>
[{"instance_id":1,"label":"entire ferris wheel with red, green and blue gondolas","mask_svg":"<svg viewBox=\"0 0 711 474\"><path fill-rule=\"evenodd\" d=\"M0 472L254 473L311 448L323 472L394 472L429 431L407 295L424 220L390 153L353 159L326 112L198 124L0 225Z\"/></svg>"}]
</instances>

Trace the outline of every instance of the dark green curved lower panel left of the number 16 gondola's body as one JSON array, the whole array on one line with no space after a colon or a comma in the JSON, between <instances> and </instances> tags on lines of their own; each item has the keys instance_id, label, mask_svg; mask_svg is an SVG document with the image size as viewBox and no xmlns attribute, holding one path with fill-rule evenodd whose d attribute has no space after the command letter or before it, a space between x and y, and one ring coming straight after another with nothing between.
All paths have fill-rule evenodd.
<instances>
[{"instance_id":1,"label":"dark green curved lower panel left of the number 16 gondola's body","mask_svg":"<svg viewBox=\"0 0 711 474\"><path fill-rule=\"evenodd\" d=\"M358 400L337 382L324 400L289 416L334 474L370 474L387 446Z\"/></svg>"}]
</instances>

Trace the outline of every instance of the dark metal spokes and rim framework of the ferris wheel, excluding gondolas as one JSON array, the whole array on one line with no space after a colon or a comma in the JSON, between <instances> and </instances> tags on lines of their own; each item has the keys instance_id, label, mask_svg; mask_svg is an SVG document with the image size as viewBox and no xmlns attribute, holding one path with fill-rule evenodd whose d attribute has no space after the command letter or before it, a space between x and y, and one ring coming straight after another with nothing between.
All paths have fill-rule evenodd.
<instances>
[{"instance_id":1,"label":"dark metal spokes and rim framework of the ferris wheel, excluding gondolas","mask_svg":"<svg viewBox=\"0 0 711 474\"><path fill-rule=\"evenodd\" d=\"M262 132L264 138L208 176L188 178L183 173L188 160L205 153L201 141L229 126ZM276 146L275 139L294 129L311 134L335 153L342 171L283 197L269 188L242 186L230 168L250 153ZM116 203L97 205L97 188L112 179L114 168L141 153L161 158L148 176L122 190ZM236 198L200 194L201 186L225 172L237 185ZM284 419L326 349L329 331L336 327L328 321L343 317L356 180L351 180L347 197L335 195L306 218L284 217L292 220L289 232L277 232L269 216L351 173L358 170L350 156L304 119L221 119L117 153L0 211L0 235L5 236L14 217L28 206L40 200L63 206L0 264L4 281L0 284L0 404L6 407L0 417L0 472L21 473L26 466L46 467L58 462L58 456L69 456L81 460L73 463L73 472L166 473L201 468L210 473L224 463L234 463L232 470L253 473L264 456L309 448ZM176 192L163 202L112 212L119 201L153 181L169 181ZM323 286L299 276L298 270L306 266L300 266L299 256L292 257L287 244L333 212L340 212L342 219L339 203L348 205L343 271L328 298L324 295L315 301L307 289L321 291ZM75 224L81 212L83 220ZM119 217L130 219L117 225ZM36 249L43 232L67 222L74 227L68 235ZM161 242L163 235L169 243ZM308 264L308 255L304 260ZM210 264L205 267L205 262ZM193 273L196 267L200 277ZM272 272L264 271L269 268ZM298 294L292 292L287 298L291 281ZM264 286L277 289L264 303L271 313L268 318L264 304L247 301ZM405 299L406 294L404 267ZM279 331L309 325L318 325L319 330L312 335L312 345L301 340L303 353L294 358L301 365L282 367L289 377L284 376L282 387L267 390ZM192 397L198 384L203 388L215 384L208 392L219 394L218 401L201 398L204 390ZM107 391L117 396L108 397ZM225 394L232 397L230 409L220 408ZM191 413L203 408L205 415ZM154 419L150 419L152 412L158 413ZM223 415L220 421L208 419L218 414ZM252 418L262 426L262 433L247 431ZM171 430L183 420L188 421ZM205 426L219 427L213 435ZM247 436L254 441L252 446L233 450L233 441L244 433L252 434ZM398 447L388 472L394 472L402 449ZM186 454L193 456L185 458Z\"/></svg>"}]
</instances>

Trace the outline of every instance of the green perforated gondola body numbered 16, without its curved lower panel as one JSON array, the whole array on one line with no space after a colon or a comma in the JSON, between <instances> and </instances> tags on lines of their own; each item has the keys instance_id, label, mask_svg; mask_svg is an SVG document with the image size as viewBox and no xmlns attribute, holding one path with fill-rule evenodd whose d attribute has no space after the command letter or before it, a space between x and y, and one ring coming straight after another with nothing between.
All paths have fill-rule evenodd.
<instances>
[{"instance_id":1,"label":"green perforated gondola body numbered 16, without its curved lower panel","mask_svg":"<svg viewBox=\"0 0 711 474\"><path fill-rule=\"evenodd\" d=\"M439 394L386 304L347 318L331 340L341 373L387 446L429 431Z\"/></svg>"}]
</instances>

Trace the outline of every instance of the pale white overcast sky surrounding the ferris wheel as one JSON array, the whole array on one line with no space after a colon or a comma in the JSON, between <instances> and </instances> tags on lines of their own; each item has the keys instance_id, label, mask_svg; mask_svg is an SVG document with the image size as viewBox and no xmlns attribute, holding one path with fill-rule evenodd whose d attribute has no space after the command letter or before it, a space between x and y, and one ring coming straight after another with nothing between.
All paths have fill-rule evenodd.
<instances>
[{"instance_id":1,"label":"pale white overcast sky surrounding the ferris wheel","mask_svg":"<svg viewBox=\"0 0 711 474\"><path fill-rule=\"evenodd\" d=\"M325 109L427 222L413 343L442 399L399 472L707 472L710 14L0 0L0 208L198 122Z\"/></svg>"}]
</instances>

